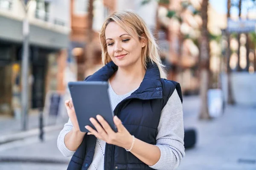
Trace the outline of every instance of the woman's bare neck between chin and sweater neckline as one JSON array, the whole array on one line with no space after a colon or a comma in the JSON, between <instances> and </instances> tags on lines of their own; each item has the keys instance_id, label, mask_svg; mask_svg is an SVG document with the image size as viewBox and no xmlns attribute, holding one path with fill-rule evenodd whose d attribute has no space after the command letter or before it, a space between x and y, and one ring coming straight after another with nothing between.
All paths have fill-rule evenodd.
<instances>
[{"instance_id":1,"label":"woman's bare neck between chin and sweater neckline","mask_svg":"<svg viewBox=\"0 0 256 170\"><path fill-rule=\"evenodd\" d=\"M122 82L137 82L142 81L145 76L145 68L142 62L136 62L128 67L119 67L116 71L114 79L118 79Z\"/></svg>"}]
</instances>

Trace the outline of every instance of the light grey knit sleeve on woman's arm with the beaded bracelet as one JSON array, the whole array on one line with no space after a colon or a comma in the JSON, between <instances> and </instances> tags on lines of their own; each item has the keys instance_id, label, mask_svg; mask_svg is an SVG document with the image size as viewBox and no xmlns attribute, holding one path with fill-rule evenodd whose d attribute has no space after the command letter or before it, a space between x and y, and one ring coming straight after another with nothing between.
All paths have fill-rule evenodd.
<instances>
[{"instance_id":1,"label":"light grey knit sleeve on woman's arm with the beaded bracelet","mask_svg":"<svg viewBox=\"0 0 256 170\"><path fill-rule=\"evenodd\" d=\"M156 146L161 156L150 167L156 170L175 170L185 156L183 109L176 89L161 112L157 131Z\"/></svg>"}]
</instances>

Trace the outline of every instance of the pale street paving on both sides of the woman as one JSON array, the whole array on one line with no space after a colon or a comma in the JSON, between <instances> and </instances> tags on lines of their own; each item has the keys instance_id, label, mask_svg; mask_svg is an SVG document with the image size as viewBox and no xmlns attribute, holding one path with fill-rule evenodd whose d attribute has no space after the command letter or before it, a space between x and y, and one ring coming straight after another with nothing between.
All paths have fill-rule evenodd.
<instances>
[{"instance_id":1,"label":"pale street paving on both sides of the woman","mask_svg":"<svg viewBox=\"0 0 256 170\"><path fill-rule=\"evenodd\" d=\"M199 107L198 97L184 97L184 126L197 129L198 142L178 170L255 170L256 108L227 106L223 116L199 121ZM58 133L47 133L43 143L35 136L0 145L0 170L65 170L70 158L58 151Z\"/></svg>"}]
</instances>

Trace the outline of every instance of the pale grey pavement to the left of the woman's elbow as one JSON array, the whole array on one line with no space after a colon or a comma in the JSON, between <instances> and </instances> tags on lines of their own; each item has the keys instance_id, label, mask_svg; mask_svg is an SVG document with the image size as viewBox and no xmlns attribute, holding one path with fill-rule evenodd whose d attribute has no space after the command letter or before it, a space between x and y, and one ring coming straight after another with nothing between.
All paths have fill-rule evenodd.
<instances>
[{"instance_id":1,"label":"pale grey pavement to the left of the woman's elbow","mask_svg":"<svg viewBox=\"0 0 256 170\"><path fill-rule=\"evenodd\" d=\"M47 133L44 142L34 136L0 145L0 170L66 170L70 158L58 150L58 133ZM10 159L10 162L3 159Z\"/></svg>"}]
</instances>

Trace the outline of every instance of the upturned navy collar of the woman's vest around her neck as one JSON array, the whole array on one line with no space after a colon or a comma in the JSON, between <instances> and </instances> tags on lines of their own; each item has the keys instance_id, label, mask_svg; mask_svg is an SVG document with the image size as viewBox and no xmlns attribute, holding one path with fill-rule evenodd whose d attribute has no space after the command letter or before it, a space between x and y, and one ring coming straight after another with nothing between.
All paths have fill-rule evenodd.
<instances>
[{"instance_id":1,"label":"upturned navy collar of the woman's vest around her neck","mask_svg":"<svg viewBox=\"0 0 256 170\"><path fill-rule=\"evenodd\" d=\"M108 81L108 79L118 69L113 62L109 62L93 75L88 77L86 81ZM160 99L163 97L163 88L160 78L160 72L155 63L148 62L147 69L140 87L131 94L132 97L140 99Z\"/></svg>"}]
</instances>

